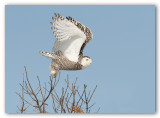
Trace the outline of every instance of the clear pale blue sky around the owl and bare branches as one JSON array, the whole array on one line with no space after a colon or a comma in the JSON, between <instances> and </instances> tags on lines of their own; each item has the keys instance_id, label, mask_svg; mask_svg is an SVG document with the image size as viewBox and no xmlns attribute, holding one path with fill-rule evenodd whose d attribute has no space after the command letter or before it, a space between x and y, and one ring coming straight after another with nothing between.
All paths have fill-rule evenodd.
<instances>
[{"instance_id":1,"label":"clear pale blue sky around the owl and bare branches","mask_svg":"<svg viewBox=\"0 0 160 118\"><path fill-rule=\"evenodd\" d=\"M155 6L26 6L5 8L5 111L16 113L24 66L31 82L49 80L50 60L38 51L52 51L55 41L50 22L54 13L71 16L89 27L93 40L84 50L92 65L81 71L62 71L61 85L70 82L88 90L99 113L155 112ZM59 86L59 87L60 87ZM61 92L60 88L57 88Z\"/></svg>"}]
</instances>

